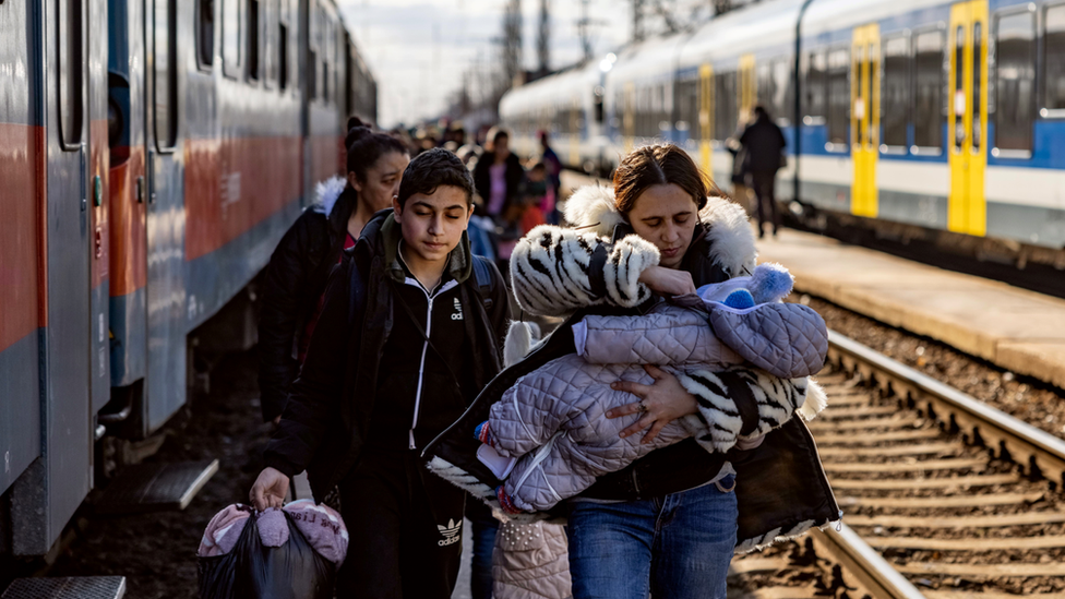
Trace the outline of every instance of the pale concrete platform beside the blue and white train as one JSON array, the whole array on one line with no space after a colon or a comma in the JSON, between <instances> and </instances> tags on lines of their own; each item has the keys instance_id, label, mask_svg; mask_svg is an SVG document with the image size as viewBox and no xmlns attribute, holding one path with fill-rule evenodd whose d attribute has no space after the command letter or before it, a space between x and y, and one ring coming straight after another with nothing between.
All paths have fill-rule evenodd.
<instances>
[{"instance_id":1,"label":"pale concrete platform beside the blue and white train","mask_svg":"<svg viewBox=\"0 0 1065 599\"><path fill-rule=\"evenodd\" d=\"M1065 300L791 229L758 253L798 291L1065 388Z\"/></svg>"}]
</instances>

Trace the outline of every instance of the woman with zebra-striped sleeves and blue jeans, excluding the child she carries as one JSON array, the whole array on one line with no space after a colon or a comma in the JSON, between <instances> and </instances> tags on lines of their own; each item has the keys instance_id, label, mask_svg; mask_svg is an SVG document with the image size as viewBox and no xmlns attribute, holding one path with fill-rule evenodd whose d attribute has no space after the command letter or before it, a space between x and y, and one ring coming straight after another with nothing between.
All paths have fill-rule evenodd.
<instances>
[{"instance_id":1,"label":"woman with zebra-striped sleeves and blue jeans, excluding the child she carries","mask_svg":"<svg viewBox=\"0 0 1065 599\"><path fill-rule=\"evenodd\" d=\"M612 200L609 193L578 193L566 207L574 229L538 227L518 243L512 280L523 309L570 318L427 447L438 474L494 501L500 481L476 457L474 431L518 379L575 352L573 324L595 314L641 314L654 295L695 293L697 286L753 271L746 215L705 181L679 147L643 147L619 166ZM638 415L622 436L646 431L642 439L650 442L670 422L693 415L710 428L709 408L730 404L740 412L739 436L747 438L749 448L711 452L689 438L598 477L552 510L569 522L574 599L725 597L733 550L750 551L838 518L799 418L750 438L761 424L759 400L799 406L805 385L745 367L684 381L646 370L647 384L615 385L635 402L607 417Z\"/></svg>"}]
</instances>

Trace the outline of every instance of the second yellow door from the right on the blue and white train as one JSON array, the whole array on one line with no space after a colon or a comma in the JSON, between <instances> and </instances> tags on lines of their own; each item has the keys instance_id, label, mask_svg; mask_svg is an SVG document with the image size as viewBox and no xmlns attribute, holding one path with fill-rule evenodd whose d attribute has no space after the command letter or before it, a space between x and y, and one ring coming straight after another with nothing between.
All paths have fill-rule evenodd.
<instances>
[{"instance_id":1,"label":"second yellow door from the right on the blue and white train","mask_svg":"<svg viewBox=\"0 0 1065 599\"><path fill-rule=\"evenodd\" d=\"M850 209L876 218L876 161L881 146L881 32L879 25L854 28L851 47L850 146L854 161Z\"/></svg>"}]
</instances>

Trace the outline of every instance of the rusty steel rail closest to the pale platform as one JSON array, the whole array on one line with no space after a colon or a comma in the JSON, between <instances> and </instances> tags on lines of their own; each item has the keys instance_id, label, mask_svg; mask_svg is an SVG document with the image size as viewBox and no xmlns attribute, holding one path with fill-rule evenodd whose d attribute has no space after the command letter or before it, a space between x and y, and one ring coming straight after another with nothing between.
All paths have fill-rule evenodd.
<instances>
[{"instance_id":1,"label":"rusty steel rail closest to the pale platform","mask_svg":"<svg viewBox=\"0 0 1065 599\"><path fill-rule=\"evenodd\" d=\"M835 331L828 332L829 360L858 371L886 394L909 400L917 409L948 427L956 427L970 442L997 450L1041 475L1065 483L1065 441L993 408L950 385L918 372Z\"/></svg>"}]
</instances>

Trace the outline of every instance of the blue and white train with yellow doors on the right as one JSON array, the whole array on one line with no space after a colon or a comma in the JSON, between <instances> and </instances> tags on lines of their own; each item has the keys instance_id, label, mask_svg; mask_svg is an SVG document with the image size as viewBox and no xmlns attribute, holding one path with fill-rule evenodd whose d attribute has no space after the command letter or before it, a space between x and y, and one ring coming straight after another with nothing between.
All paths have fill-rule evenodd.
<instances>
[{"instance_id":1,"label":"blue and white train with yellow doors on the right","mask_svg":"<svg viewBox=\"0 0 1065 599\"><path fill-rule=\"evenodd\" d=\"M520 153L543 130L608 173L667 141L727 188L757 104L788 143L789 214L1065 268L1057 1L766 0L517 87L500 115Z\"/></svg>"}]
</instances>

